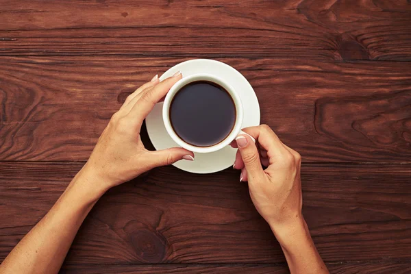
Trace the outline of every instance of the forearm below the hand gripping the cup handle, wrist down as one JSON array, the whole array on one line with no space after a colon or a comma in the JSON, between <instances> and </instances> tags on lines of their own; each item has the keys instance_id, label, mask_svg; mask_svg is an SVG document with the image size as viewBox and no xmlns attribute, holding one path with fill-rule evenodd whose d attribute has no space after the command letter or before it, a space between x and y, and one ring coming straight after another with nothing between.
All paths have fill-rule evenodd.
<instances>
[{"instance_id":1,"label":"forearm below the hand gripping the cup handle, wrist down","mask_svg":"<svg viewBox=\"0 0 411 274\"><path fill-rule=\"evenodd\" d=\"M304 219L298 219L282 229L271 228L286 256L290 273L329 273Z\"/></svg>"}]
</instances>

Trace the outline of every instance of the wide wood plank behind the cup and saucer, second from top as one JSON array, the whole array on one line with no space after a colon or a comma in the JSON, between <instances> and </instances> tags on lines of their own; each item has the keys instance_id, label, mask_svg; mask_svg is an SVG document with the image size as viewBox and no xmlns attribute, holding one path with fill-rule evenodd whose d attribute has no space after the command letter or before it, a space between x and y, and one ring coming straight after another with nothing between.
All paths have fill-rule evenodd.
<instances>
[{"instance_id":1,"label":"wide wood plank behind the cup and saucer, second from top","mask_svg":"<svg viewBox=\"0 0 411 274\"><path fill-rule=\"evenodd\" d=\"M183 60L0 58L0 160L87 160L125 97ZM410 162L408 62L219 60L249 79L262 123L303 161Z\"/></svg>"}]
</instances>

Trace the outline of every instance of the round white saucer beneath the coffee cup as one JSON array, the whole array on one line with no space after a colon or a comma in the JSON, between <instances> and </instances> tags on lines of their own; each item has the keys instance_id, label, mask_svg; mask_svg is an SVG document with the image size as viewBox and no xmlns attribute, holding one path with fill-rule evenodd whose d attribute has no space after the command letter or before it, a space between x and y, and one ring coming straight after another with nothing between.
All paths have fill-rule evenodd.
<instances>
[{"instance_id":1,"label":"round white saucer beneath the coffee cup","mask_svg":"<svg viewBox=\"0 0 411 274\"><path fill-rule=\"evenodd\" d=\"M260 105L258 105L256 93L247 79L232 66L209 59L189 60L173 66L160 77L160 80L171 77L177 71L181 71L183 77L197 73L209 73L226 79L234 90L239 92L242 101L244 108L242 128L260 125ZM155 149L178 147L164 127L162 103L155 105L149 116L147 116L146 125L149 138ZM182 160L176 162L173 166L191 173L214 173L232 166L235 158L236 149L225 147L212 153L195 153L195 161Z\"/></svg>"}]
</instances>

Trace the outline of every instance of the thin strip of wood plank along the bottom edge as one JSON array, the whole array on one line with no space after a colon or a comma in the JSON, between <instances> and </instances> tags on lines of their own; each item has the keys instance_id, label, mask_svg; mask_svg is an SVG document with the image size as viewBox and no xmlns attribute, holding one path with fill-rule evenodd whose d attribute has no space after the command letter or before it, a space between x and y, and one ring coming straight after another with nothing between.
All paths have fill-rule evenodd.
<instances>
[{"instance_id":1,"label":"thin strip of wood plank along the bottom edge","mask_svg":"<svg viewBox=\"0 0 411 274\"><path fill-rule=\"evenodd\" d=\"M327 264L331 273L379 273L407 274L411 271L410 262L364 262ZM62 273L140 273L140 274L174 274L174 273L212 273L212 274L279 274L290 273L286 265L281 264L134 264L134 265L66 265Z\"/></svg>"}]
</instances>

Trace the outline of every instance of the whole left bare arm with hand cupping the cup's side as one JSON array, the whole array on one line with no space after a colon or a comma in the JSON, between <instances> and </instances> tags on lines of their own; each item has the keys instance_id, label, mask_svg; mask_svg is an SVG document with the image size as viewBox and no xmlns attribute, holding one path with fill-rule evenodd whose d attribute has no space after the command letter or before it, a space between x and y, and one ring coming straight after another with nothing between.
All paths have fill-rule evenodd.
<instances>
[{"instance_id":1,"label":"whole left bare arm with hand cupping the cup's side","mask_svg":"<svg viewBox=\"0 0 411 274\"><path fill-rule=\"evenodd\" d=\"M0 264L1 274L58 273L80 225L106 190L156 166L193 158L192 152L182 148L147 151L140 139L142 121L181 77L178 74L161 83L154 77L127 97L83 169Z\"/></svg>"}]
</instances>

